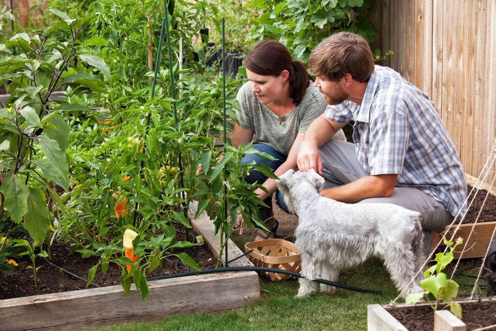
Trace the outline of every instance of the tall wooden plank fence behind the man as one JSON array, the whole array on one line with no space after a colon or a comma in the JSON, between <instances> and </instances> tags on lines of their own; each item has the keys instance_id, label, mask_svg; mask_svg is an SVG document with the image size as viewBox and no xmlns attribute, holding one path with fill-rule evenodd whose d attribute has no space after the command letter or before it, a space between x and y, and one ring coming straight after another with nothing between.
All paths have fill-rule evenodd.
<instances>
[{"instance_id":1,"label":"tall wooden plank fence behind the man","mask_svg":"<svg viewBox=\"0 0 496 331\"><path fill-rule=\"evenodd\" d=\"M370 18L373 46L394 52L383 65L432 98L465 172L478 177L495 153L496 0L375 0Z\"/></svg>"}]
</instances>

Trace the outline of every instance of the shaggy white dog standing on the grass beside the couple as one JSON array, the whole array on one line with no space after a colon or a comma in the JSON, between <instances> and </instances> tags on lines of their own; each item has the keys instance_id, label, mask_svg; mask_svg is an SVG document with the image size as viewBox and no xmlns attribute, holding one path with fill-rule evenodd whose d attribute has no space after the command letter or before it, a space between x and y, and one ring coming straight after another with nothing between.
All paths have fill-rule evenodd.
<instances>
[{"instance_id":1,"label":"shaggy white dog standing on the grass beside the couple","mask_svg":"<svg viewBox=\"0 0 496 331\"><path fill-rule=\"evenodd\" d=\"M390 203L347 204L320 196L324 179L313 169L288 170L276 180L289 210L299 216L296 246L302 256L297 297L317 291L312 280L319 276L335 281L339 270L361 264L372 256L381 258L396 288L422 292L423 263L421 214ZM414 279L412 281L412 279ZM322 292L335 287L320 284Z\"/></svg>"}]
</instances>

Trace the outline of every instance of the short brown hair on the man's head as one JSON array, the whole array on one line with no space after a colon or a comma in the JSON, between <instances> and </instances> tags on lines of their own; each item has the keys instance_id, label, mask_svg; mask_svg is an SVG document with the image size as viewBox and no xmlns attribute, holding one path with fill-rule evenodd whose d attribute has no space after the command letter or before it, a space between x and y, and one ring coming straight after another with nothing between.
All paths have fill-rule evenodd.
<instances>
[{"instance_id":1,"label":"short brown hair on the man's head","mask_svg":"<svg viewBox=\"0 0 496 331\"><path fill-rule=\"evenodd\" d=\"M339 32L325 38L310 54L309 68L315 76L339 81L346 73L361 83L374 71L372 52L365 39L355 33Z\"/></svg>"}]
</instances>

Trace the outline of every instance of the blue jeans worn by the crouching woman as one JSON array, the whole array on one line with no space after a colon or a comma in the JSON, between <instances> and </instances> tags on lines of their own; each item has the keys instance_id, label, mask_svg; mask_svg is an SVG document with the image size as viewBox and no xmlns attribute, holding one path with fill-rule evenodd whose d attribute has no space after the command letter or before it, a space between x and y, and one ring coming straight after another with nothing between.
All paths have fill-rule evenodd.
<instances>
[{"instance_id":1,"label":"blue jeans worn by the crouching woman","mask_svg":"<svg viewBox=\"0 0 496 331\"><path fill-rule=\"evenodd\" d=\"M276 170L281 166L286 161L287 156L279 153L276 151L274 148L270 147L269 145L265 144L255 144L251 146L255 149L257 149L259 152L265 152L267 154L272 155L273 157L277 158L277 160L268 160L265 159L261 156L255 155L255 154L246 154L242 159L241 163L247 164L250 163L251 161L255 161L255 163L261 163L265 164L267 167L271 168L272 171ZM267 176L264 174L258 172L258 171L250 171L247 176L245 176L245 180L249 184L253 184L257 182L258 184L263 184L267 180ZM269 207L259 207L258 208L258 219L261 220L262 222L265 222L269 217L272 216L272 197L268 197L265 199L263 202L265 202ZM282 210L285 212L288 212L288 207L284 203L284 195L276 191L276 203L279 207L281 207Z\"/></svg>"}]
</instances>

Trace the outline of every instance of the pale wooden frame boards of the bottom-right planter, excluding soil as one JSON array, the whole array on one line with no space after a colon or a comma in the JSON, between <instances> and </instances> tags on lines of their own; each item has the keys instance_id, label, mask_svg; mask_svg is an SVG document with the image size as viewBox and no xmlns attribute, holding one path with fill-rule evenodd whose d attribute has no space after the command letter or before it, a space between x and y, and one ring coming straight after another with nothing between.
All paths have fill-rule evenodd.
<instances>
[{"instance_id":1,"label":"pale wooden frame boards of the bottom-right planter, excluding soil","mask_svg":"<svg viewBox=\"0 0 496 331\"><path fill-rule=\"evenodd\" d=\"M491 298L484 298L482 301L494 301ZM459 301L461 302L461 301ZM474 302L479 300L465 300L464 303ZM407 309L412 307L429 306L429 303L407 305L398 304L394 307L390 305L369 305L367 307L367 330L368 331L408 331L398 320L396 320L389 312L391 310ZM434 331L465 331L466 325L458 317L453 315L448 310L438 310L434 313Z\"/></svg>"}]
</instances>

